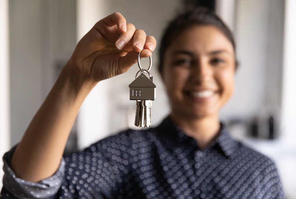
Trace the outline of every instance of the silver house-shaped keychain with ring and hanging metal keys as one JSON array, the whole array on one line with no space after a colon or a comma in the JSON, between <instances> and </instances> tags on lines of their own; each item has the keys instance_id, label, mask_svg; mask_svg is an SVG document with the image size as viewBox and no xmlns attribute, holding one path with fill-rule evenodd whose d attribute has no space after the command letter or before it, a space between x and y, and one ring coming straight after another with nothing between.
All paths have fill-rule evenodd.
<instances>
[{"instance_id":1,"label":"silver house-shaped keychain with ring and hanging metal keys","mask_svg":"<svg viewBox=\"0 0 296 199\"><path fill-rule=\"evenodd\" d=\"M151 57L149 57L150 65L147 70L141 68L139 57L140 53L138 56L138 65L140 70L136 74L136 79L129 85L130 100L136 100L137 108L135 125L138 127L149 127L151 126L151 100L155 99L156 86L153 83L153 77L149 73L152 62ZM138 76L139 72L141 72L140 76ZM147 73L149 78L145 76L144 73Z\"/></svg>"}]
</instances>

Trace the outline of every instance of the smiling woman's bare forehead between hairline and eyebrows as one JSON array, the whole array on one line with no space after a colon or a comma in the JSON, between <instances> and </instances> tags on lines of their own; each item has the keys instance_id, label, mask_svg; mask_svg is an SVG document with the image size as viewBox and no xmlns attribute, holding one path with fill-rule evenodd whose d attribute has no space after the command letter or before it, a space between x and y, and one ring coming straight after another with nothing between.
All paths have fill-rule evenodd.
<instances>
[{"instance_id":1,"label":"smiling woman's bare forehead between hairline and eyebrows","mask_svg":"<svg viewBox=\"0 0 296 199\"><path fill-rule=\"evenodd\" d=\"M213 25L194 25L181 31L173 39L168 51L180 49L198 52L226 50L234 53L229 39Z\"/></svg>"}]
</instances>

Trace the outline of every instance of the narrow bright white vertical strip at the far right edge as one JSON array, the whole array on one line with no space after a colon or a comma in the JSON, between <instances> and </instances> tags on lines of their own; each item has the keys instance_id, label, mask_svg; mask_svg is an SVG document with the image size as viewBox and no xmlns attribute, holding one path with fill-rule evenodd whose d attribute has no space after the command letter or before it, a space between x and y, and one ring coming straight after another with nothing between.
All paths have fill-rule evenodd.
<instances>
[{"instance_id":1,"label":"narrow bright white vertical strip at the far right edge","mask_svg":"<svg viewBox=\"0 0 296 199\"><path fill-rule=\"evenodd\" d=\"M283 56L283 138L290 146L296 142L296 1L286 0L284 21L284 56Z\"/></svg>"}]
</instances>

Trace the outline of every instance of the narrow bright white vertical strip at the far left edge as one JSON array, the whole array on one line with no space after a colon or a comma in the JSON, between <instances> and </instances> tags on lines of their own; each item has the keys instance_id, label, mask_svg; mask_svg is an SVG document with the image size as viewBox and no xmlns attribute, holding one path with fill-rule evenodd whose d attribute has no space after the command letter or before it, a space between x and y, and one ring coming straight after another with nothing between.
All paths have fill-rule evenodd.
<instances>
[{"instance_id":1,"label":"narrow bright white vertical strip at the far left edge","mask_svg":"<svg viewBox=\"0 0 296 199\"><path fill-rule=\"evenodd\" d=\"M10 103L9 103L9 4L0 1L0 187L3 177L3 154L10 147Z\"/></svg>"}]
</instances>

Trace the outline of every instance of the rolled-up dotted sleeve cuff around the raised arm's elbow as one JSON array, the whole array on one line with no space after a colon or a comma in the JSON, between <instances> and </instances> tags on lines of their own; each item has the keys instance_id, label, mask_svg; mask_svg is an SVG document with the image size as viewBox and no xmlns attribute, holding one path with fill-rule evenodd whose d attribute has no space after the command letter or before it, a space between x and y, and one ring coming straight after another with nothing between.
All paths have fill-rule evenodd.
<instances>
[{"instance_id":1,"label":"rolled-up dotted sleeve cuff around the raised arm's elbow","mask_svg":"<svg viewBox=\"0 0 296 199\"><path fill-rule=\"evenodd\" d=\"M3 188L1 198L49 198L57 193L65 173L65 160L62 159L53 176L33 183L17 178L9 163L16 146L3 156Z\"/></svg>"}]
</instances>

